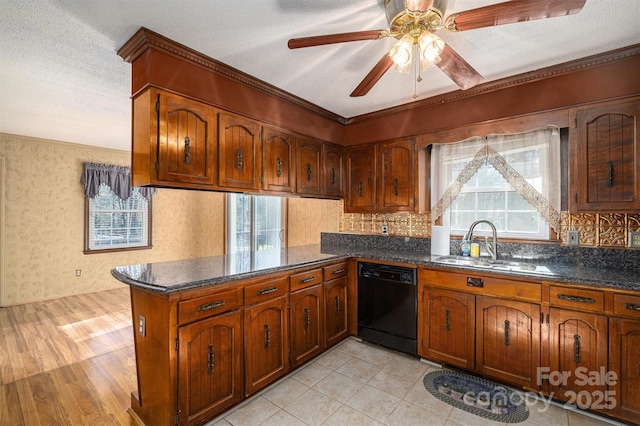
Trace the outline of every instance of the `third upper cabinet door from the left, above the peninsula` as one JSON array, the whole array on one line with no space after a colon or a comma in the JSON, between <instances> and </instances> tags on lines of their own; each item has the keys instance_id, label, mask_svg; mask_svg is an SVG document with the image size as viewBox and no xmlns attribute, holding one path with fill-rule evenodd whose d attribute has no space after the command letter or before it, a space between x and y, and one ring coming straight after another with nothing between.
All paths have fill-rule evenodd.
<instances>
[{"instance_id":1,"label":"third upper cabinet door from the left, above the peninsula","mask_svg":"<svg viewBox=\"0 0 640 426\"><path fill-rule=\"evenodd\" d=\"M281 129L265 127L262 138L262 189L294 192L295 137Z\"/></svg>"}]
</instances>

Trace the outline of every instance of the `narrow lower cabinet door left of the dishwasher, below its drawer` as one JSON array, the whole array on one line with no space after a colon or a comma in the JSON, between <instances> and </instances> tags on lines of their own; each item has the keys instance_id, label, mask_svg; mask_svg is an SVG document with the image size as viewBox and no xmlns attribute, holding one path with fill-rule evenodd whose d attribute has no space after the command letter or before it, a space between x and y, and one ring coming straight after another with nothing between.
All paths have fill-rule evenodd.
<instances>
[{"instance_id":1,"label":"narrow lower cabinet door left of the dishwasher, below its drawer","mask_svg":"<svg viewBox=\"0 0 640 426\"><path fill-rule=\"evenodd\" d=\"M331 347L349 336L347 320L348 277L324 283L326 346Z\"/></svg>"}]
</instances>

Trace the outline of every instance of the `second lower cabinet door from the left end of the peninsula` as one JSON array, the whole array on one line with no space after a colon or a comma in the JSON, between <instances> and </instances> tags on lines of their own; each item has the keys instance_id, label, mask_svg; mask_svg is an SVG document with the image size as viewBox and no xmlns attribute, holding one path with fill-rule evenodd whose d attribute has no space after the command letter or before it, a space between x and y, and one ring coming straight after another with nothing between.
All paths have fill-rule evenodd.
<instances>
[{"instance_id":1,"label":"second lower cabinet door from the left end of the peninsula","mask_svg":"<svg viewBox=\"0 0 640 426\"><path fill-rule=\"evenodd\" d=\"M251 395L289 371L288 295L245 307L245 393Z\"/></svg>"}]
</instances>

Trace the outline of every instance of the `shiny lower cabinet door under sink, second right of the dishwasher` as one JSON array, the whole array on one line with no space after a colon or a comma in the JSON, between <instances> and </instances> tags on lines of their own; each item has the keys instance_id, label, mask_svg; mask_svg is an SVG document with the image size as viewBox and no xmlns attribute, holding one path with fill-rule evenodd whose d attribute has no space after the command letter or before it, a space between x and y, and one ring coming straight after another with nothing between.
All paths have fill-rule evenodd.
<instances>
[{"instance_id":1,"label":"shiny lower cabinet door under sink, second right of the dishwasher","mask_svg":"<svg viewBox=\"0 0 640 426\"><path fill-rule=\"evenodd\" d=\"M540 306L476 296L476 365L486 376L537 389Z\"/></svg>"}]
</instances>

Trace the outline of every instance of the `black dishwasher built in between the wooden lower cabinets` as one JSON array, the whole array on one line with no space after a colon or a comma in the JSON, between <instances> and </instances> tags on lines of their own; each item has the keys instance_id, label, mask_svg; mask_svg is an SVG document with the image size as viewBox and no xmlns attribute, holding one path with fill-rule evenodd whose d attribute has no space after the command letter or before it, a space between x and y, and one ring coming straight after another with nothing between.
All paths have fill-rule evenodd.
<instances>
[{"instance_id":1,"label":"black dishwasher built in between the wooden lower cabinets","mask_svg":"<svg viewBox=\"0 0 640 426\"><path fill-rule=\"evenodd\" d=\"M415 268L358 263L358 336L410 355L417 346Z\"/></svg>"}]
</instances>

